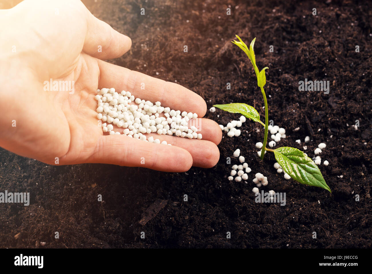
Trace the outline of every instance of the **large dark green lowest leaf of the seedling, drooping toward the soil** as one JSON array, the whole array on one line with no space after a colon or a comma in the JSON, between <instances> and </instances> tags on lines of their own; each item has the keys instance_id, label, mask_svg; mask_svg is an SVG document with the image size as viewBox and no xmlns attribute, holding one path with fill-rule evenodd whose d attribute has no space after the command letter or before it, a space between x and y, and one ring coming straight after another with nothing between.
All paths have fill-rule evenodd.
<instances>
[{"instance_id":1,"label":"large dark green lowest leaf of the seedling, drooping toward the soil","mask_svg":"<svg viewBox=\"0 0 372 274\"><path fill-rule=\"evenodd\" d=\"M317 186L331 192L318 166L304 152L297 148L280 147L274 149L274 154L282 169L294 180L304 185Z\"/></svg>"}]
</instances>

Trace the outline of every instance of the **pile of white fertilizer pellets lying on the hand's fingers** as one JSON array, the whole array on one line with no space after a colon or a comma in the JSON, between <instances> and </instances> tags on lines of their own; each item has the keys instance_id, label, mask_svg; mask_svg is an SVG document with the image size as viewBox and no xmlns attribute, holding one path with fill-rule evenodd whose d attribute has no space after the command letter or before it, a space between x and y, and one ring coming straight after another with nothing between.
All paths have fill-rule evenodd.
<instances>
[{"instance_id":1,"label":"pile of white fertilizer pellets lying on the hand's fingers","mask_svg":"<svg viewBox=\"0 0 372 274\"><path fill-rule=\"evenodd\" d=\"M135 98L129 91L115 92L114 88L97 89L95 99L98 102L97 119L104 122L102 131L109 134L121 134L114 131L113 125L122 127L123 134L143 141L160 143L153 136L146 138L146 133L156 132L159 135L175 135L189 139L202 139L195 126L188 127L190 119L198 118L196 113L171 110L162 107L160 102ZM164 116L160 114L164 113ZM107 122L107 123L106 123ZM167 145L166 141L161 144ZM168 144L170 145L170 144Z\"/></svg>"}]
</instances>

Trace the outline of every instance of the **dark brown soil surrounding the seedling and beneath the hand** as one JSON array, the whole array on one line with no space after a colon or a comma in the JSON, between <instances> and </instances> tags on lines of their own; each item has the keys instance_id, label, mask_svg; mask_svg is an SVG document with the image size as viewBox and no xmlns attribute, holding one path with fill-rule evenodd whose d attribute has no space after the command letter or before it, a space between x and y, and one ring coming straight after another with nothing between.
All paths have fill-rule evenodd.
<instances>
[{"instance_id":1,"label":"dark brown soil surrounding the seedling and beneath the hand","mask_svg":"<svg viewBox=\"0 0 372 274\"><path fill-rule=\"evenodd\" d=\"M321 157L330 164L320 169L332 194L283 179L272 154L260 161L255 143L263 132L251 121L239 138L224 133L217 166L179 174L99 164L47 166L1 149L1 189L31 192L31 204L0 204L0 247L370 248L371 3L246 2L84 1L95 16L132 38L132 50L114 63L177 81L202 95L208 108L242 102L263 117L253 70L230 42L235 34L247 43L257 37L257 65L270 68L269 119L287 133L279 144L302 149L295 140L311 135L306 152L313 156L325 142ZM330 93L298 91L304 78L330 81ZM206 117L226 125L238 115L217 110ZM237 159L226 164L226 158L236 148L252 169L248 184L227 180ZM254 202L251 179L257 172L269 180L262 189L286 192L285 206ZM99 194L104 202L97 202Z\"/></svg>"}]
</instances>

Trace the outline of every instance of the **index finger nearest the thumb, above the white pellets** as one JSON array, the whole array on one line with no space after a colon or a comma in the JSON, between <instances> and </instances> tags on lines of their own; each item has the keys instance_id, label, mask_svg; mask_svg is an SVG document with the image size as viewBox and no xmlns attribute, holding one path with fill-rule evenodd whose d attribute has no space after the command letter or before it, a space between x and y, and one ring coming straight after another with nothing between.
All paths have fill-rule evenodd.
<instances>
[{"instance_id":1,"label":"index finger nearest the thumb, above the white pellets","mask_svg":"<svg viewBox=\"0 0 372 274\"><path fill-rule=\"evenodd\" d=\"M207 105L203 98L190 89L166 82L144 73L97 60L100 69L98 88L115 88L117 92L129 91L136 98L160 101L163 107L197 113L203 117Z\"/></svg>"}]
</instances>

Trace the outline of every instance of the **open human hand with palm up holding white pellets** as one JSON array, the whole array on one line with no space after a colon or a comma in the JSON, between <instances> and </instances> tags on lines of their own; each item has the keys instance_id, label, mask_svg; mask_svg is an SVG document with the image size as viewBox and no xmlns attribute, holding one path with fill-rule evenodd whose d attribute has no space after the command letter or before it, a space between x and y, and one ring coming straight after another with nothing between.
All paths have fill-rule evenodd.
<instances>
[{"instance_id":1,"label":"open human hand with palm up holding white pellets","mask_svg":"<svg viewBox=\"0 0 372 274\"><path fill-rule=\"evenodd\" d=\"M131 39L95 18L80 1L25 0L0 10L0 26L1 147L47 164L58 157L59 164L107 163L171 172L217 164L222 132L209 119L197 118L202 140L157 137L172 146L103 134L96 118L97 88L130 91L198 117L205 115L206 103L183 86L103 61L126 53ZM49 79L74 81L74 93L44 91Z\"/></svg>"}]
</instances>

